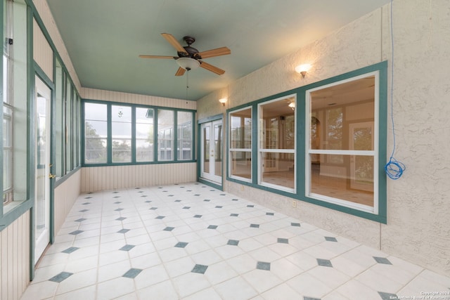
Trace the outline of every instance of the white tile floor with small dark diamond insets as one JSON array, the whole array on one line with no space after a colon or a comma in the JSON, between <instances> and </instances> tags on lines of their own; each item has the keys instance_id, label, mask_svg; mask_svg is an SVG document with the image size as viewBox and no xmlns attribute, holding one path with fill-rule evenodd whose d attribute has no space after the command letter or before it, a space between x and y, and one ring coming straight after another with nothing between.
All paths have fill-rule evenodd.
<instances>
[{"instance_id":1,"label":"white tile floor with small dark diamond insets","mask_svg":"<svg viewBox=\"0 0 450 300\"><path fill-rule=\"evenodd\" d=\"M450 299L450 278L188 183L80 195L22 299L391 300L427 292Z\"/></svg>"}]
</instances>

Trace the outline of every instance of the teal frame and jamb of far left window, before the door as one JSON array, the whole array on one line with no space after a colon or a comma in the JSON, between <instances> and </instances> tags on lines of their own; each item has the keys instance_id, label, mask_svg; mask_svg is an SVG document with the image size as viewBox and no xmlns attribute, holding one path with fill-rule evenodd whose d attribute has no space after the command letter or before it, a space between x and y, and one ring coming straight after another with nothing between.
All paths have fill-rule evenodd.
<instances>
[{"instance_id":1,"label":"teal frame and jamb of far left window, before the door","mask_svg":"<svg viewBox=\"0 0 450 300\"><path fill-rule=\"evenodd\" d=\"M6 0L0 0L0 39L5 42L5 32L4 32L4 5ZM32 160L32 155L30 155L30 150L33 147L32 139L27 134L30 130L27 120L30 117L30 98L34 98L30 86L34 86L34 71L32 70L32 12L27 7L25 1L13 1L13 34L15 51L13 57L13 81L20 77L20 81L26 81L26 86L22 84L14 84L11 86L11 91L13 91L13 102L12 108L14 110L14 116L12 119L11 126L13 135L11 136L13 141L12 155L13 155L13 178L11 178L13 183L13 200L0 205L0 231L4 230L9 224L11 224L15 219L25 213L28 209L32 207L32 194L30 193L30 178L32 177L32 170L29 168L28 162ZM18 25L18 26L17 26ZM25 44L25 46L24 46ZM18 62L18 64L17 64ZM1 74L0 74L0 91L1 94L4 92L4 64L3 59L0 61ZM26 69L24 68L26 66ZM17 68L17 69L16 69ZM33 79L32 79L33 78ZM34 89L33 89L34 91ZM3 102L3 99L2 99ZM4 117L4 109L0 110L0 117ZM19 125L20 124L20 125ZM15 132L23 132L25 134L15 134ZM3 148L3 122L0 124L0 146ZM20 140L20 146L18 146L17 141ZM25 167L26 164L26 167ZM26 168L24 170L23 168ZM3 174L4 172L4 152L1 151L0 154L0 169ZM23 177L19 178L19 172L23 171ZM1 190L4 188L3 180L1 180Z\"/></svg>"}]
</instances>

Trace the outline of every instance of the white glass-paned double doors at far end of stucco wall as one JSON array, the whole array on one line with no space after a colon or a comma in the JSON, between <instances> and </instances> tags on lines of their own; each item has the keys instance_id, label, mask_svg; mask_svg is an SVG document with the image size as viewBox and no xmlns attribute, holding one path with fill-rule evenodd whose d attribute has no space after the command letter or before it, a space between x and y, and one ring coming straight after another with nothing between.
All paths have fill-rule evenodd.
<instances>
[{"instance_id":1,"label":"white glass-paned double doors at far end of stucco wall","mask_svg":"<svg viewBox=\"0 0 450 300\"><path fill-rule=\"evenodd\" d=\"M200 177L222 182L222 120L201 124Z\"/></svg>"}]
</instances>

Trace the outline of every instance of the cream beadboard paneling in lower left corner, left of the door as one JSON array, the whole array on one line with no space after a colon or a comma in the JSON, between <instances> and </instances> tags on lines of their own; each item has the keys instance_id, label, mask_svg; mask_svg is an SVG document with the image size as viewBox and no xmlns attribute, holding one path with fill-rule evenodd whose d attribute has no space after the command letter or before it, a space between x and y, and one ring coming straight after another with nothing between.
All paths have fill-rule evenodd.
<instances>
[{"instance_id":1,"label":"cream beadboard paneling in lower left corner, left of the door","mask_svg":"<svg viewBox=\"0 0 450 300\"><path fill-rule=\"evenodd\" d=\"M0 232L0 300L20 299L30 282L30 211Z\"/></svg>"}]
</instances>

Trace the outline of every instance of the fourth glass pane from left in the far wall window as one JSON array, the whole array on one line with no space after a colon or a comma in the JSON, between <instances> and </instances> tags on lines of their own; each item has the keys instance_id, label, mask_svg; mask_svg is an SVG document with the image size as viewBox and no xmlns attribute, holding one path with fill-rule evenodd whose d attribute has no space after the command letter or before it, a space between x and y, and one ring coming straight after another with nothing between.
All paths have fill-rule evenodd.
<instances>
[{"instance_id":1,"label":"fourth glass pane from left in the far wall window","mask_svg":"<svg viewBox=\"0 0 450 300\"><path fill-rule=\"evenodd\" d=\"M158 160L173 160L174 111L158 110Z\"/></svg>"}]
</instances>

